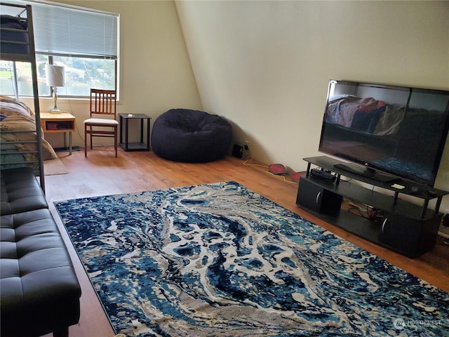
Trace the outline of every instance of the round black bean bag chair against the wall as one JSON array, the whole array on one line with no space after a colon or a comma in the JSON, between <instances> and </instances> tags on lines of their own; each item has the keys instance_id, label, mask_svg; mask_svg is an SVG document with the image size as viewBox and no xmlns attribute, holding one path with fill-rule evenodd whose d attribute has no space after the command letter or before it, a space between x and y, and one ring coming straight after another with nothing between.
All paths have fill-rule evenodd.
<instances>
[{"instance_id":1,"label":"round black bean bag chair against the wall","mask_svg":"<svg viewBox=\"0 0 449 337\"><path fill-rule=\"evenodd\" d=\"M172 109L154 121L152 150L164 159L203 163L224 157L231 138L231 124L216 114Z\"/></svg>"}]
</instances>

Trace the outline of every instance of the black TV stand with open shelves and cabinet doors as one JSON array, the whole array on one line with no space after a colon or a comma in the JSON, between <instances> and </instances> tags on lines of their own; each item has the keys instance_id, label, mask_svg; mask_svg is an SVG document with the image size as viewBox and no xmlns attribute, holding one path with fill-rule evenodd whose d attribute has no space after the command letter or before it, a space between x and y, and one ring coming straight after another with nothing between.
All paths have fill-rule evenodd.
<instances>
[{"instance_id":1,"label":"black TV stand with open shelves and cabinet doors","mask_svg":"<svg viewBox=\"0 0 449 337\"><path fill-rule=\"evenodd\" d=\"M443 214L438 209L447 191L431 189L408 180L394 177L382 181L373 176L361 176L345 170L342 161L330 157L304 158L307 173L302 174L297 190L296 204L328 223L387 247L405 256L415 258L433 249ZM332 173L335 180L320 179L310 173L311 165ZM376 192L356 183L344 181L347 176L363 183L383 187L394 195ZM399 194L408 194L424 200L422 205L400 199ZM376 209L376 218L363 217L342 207L342 199L356 201ZM429 200L437 199L433 211L428 211Z\"/></svg>"}]
</instances>

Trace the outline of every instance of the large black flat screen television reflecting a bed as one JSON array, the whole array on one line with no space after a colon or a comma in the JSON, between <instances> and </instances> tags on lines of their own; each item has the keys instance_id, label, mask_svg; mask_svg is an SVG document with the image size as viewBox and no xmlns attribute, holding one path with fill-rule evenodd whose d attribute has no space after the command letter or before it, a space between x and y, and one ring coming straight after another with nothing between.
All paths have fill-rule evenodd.
<instances>
[{"instance_id":1,"label":"large black flat screen television reflecting a bed","mask_svg":"<svg viewBox=\"0 0 449 337\"><path fill-rule=\"evenodd\" d=\"M449 91L330 80L319 152L374 180L433 187L448 129Z\"/></svg>"}]
</instances>

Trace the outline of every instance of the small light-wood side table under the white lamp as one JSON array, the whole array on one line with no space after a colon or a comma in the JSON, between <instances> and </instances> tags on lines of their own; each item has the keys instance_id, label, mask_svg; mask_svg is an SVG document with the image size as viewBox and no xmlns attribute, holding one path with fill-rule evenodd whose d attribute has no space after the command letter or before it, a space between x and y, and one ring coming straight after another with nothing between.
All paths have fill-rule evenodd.
<instances>
[{"instance_id":1,"label":"small light-wood side table under the white lamp","mask_svg":"<svg viewBox=\"0 0 449 337\"><path fill-rule=\"evenodd\" d=\"M64 133L64 147L67 147L66 133L69 133L69 154L72 154L72 132L76 131L74 115L69 112L41 112L41 127L44 133Z\"/></svg>"}]
</instances>

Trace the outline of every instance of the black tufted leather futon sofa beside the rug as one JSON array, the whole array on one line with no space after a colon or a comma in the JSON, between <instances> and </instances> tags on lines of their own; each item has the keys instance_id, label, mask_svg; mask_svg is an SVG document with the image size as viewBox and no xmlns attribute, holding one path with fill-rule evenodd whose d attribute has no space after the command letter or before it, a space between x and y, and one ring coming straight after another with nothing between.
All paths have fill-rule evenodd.
<instances>
[{"instance_id":1,"label":"black tufted leather futon sofa beside the rug","mask_svg":"<svg viewBox=\"0 0 449 337\"><path fill-rule=\"evenodd\" d=\"M1 170L1 336L68 336L81 287L36 177Z\"/></svg>"}]
</instances>

